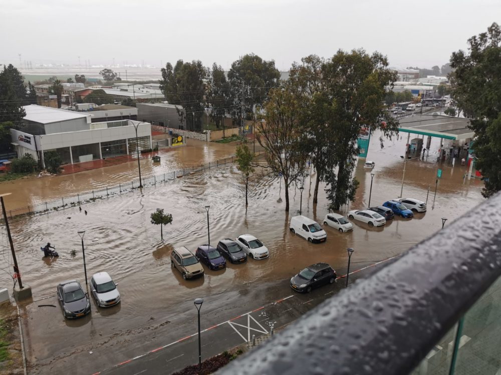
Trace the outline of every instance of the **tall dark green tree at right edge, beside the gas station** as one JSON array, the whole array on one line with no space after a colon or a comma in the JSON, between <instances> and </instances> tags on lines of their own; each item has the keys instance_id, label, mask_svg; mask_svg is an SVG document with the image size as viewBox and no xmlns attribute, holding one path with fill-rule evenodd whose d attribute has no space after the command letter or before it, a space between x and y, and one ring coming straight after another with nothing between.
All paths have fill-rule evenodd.
<instances>
[{"instance_id":1,"label":"tall dark green tree at right edge, beside the gas station","mask_svg":"<svg viewBox=\"0 0 501 375\"><path fill-rule=\"evenodd\" d=\"M469 52L450 57L451 96L459 110L472 118L476 134L476 168L482 172L484 197L501 190L501 28L492 23L487 32L468 39Z\"/></svg>"}]
</instances>

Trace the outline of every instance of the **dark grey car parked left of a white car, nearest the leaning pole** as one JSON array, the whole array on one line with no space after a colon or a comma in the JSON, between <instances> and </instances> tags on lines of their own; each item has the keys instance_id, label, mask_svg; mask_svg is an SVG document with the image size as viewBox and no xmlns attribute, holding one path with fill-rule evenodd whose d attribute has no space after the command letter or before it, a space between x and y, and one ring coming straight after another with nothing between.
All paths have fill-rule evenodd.
<instances>
[{"instance_id":1,"label":"dark grey car parked left of a white car, nearest the leaning pole","mask_svg":"<svg viewBox=\"0 0 501 375\"><path fill-rule=\"evenodd\" d=\"M76 318L91 312L91 301L77 280L60 282L57 294L65 318Z\"/></svg>"}]
</instances>

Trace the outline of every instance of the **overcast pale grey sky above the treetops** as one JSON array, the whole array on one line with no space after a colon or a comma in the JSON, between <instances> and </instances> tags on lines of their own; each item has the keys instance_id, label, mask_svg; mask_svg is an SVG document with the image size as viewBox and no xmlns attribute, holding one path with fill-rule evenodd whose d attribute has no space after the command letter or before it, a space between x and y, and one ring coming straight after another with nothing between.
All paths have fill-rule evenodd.
<instances>
[{"instance_id":1,"label":"overcast pale grey sky above the treetops","mask_svg":"<svg viewBox=\"0 0 501 375\"><path fill-rule=\"evenodd\" d=\"M500 21L499 0L2 0L0 63L228 68L254 52L281 70L311 53L363 47L395 66L441 66Z\"/></svg>"}]
</instances>

